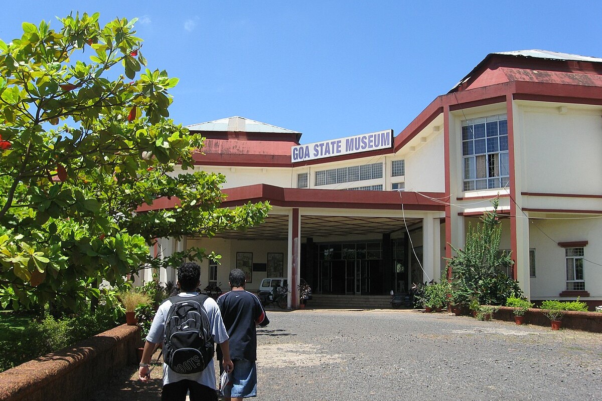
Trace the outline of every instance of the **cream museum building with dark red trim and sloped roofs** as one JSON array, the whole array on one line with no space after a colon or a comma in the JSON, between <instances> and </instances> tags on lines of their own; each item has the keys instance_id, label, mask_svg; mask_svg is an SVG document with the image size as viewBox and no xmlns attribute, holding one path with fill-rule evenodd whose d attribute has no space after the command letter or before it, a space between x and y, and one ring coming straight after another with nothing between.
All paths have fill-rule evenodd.
<instances>
[{"instance_id":1,"label":"cream museum building with dark red trim and sloped roofs","mask_svg":"<svg viewBox=\"0 0 602 401\"><path fill-rule=\"evenodd\" d=\"M206 137L195 168L226 176L223 206L273 208L247 231L159 239L151 251L221 254L220 265L202 262L202 286L226 290L237 266L251 291L287 277L291 307L300 278L317 297L382 298L438 280L446 245L462 248L499 196L507 274L525 295L602 304L602 58L489 54L405 129L389 128L303 144L300 132L243 117L188 126Z\"/></svg>"}]
</instances>

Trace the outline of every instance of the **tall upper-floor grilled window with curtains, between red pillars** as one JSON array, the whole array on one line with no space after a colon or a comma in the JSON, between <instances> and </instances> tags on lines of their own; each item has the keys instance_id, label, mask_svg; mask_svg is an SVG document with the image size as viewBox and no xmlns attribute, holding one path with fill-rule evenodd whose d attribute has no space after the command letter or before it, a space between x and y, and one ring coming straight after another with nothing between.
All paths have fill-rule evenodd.
<instances>
[{"instance_id":1,"label":"tall upper-floor grilled window with curtains, between red pillars","mask_svg":"<svg viewBox=\"0 0 602 401\"><path fill-rule=\"evenodd\" d=\"M462 121L464 191L504 188L510 180L506 114Z\"/></svg>"}]
</instances>

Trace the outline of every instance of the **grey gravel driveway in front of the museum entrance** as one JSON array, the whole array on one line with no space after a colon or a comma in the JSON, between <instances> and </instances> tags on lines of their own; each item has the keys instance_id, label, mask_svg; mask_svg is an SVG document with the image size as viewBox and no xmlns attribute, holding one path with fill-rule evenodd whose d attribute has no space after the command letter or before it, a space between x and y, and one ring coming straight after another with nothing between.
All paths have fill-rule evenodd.
<instances>
[{"instance_id":1,"label":"grey gravel driveway in front of the museum entrance","mask_svg":"<svg viewBox=\"0 0 602 401\"><path fill-rule=\"evenodd\" d=\"M258 400L602 400L602 334L415 310L267 313ZM158 399L153 373L92 399Z\"/></svg>"}]
</instances>

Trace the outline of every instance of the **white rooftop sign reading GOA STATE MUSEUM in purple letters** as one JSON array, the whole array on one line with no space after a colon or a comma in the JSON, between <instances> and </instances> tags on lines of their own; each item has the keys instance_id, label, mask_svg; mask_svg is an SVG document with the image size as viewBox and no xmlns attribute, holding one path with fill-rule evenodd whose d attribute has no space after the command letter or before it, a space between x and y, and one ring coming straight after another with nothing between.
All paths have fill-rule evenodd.
<instances>
[{"instance_id":1,"label":"white rooftop sign reading GOA STATE MUSEUM in purple letters","mask_svg":"<svg viewBox=\"0 0 602 401\"><path fill-rule=\"evenodd\" d=\"M330 158L332 156L349 155L350 153L368 152L368 150L385 149L393 144L393 130L364 133L347 138L314 142L291 147L291 162Z\"/></svg>"}]
</instances>

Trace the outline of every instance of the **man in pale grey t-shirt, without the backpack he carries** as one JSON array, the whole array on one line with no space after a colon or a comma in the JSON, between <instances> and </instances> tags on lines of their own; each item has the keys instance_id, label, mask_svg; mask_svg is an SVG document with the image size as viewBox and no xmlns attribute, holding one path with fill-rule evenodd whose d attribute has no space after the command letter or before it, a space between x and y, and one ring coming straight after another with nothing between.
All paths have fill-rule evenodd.
<instances>
[{"instance_id":1,"label":"man in pale grey t-shirt, without the backpack he carries","mask_svg":"<svg viewBox=\"0 0 602 401\"><path fill-rule=\"evenodd\" d=\"M198 295L196 288L200 284L200 266L196 263L183 263L178 268L178 287L181 292L178 296L182 298ZM141 381L147 382L150 379L149 362L152 358L153 350L156 345L163 343L165 337L165 321L167 313L172 302L167 299L159 309L153 319L149 334L146 336L144 344L144 352L140 361L140 369L138 370L138 378ZM228 343L228 332L222 320L222 314L216 301L213 298L205 299L203 308L209 317L209 325L213 333L214 341L220 344L223 354L222 365L226 372L232 372L234 364L230 360L230 350ZM167 364L163 364L163 391L161 393L162 400L169 401L184 401L186 394L190 392L190 401L214 400L217 401L216 394L216 373L213 366L213 359L205 367L202 372L182 375L174 372Z\"/></svg>"}]
</instances>

